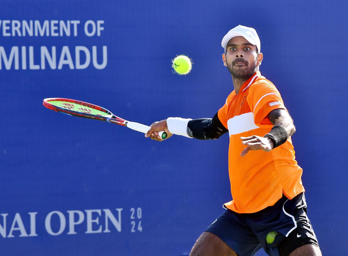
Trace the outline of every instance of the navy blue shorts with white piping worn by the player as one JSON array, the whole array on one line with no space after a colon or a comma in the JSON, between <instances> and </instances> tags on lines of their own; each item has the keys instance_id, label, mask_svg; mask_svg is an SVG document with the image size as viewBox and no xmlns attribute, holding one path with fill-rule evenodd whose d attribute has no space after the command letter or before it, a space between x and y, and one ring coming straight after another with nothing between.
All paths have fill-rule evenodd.
<instances>
[{"instance_id":1,"label":"navy blue shorts with white piping worn by the player","mask_svg":"<svg viewBox=\"0 0 348 256\"><path fill-rule=\"evenodd\" d=\"M266 236L279 232L270 245ZM306 244L319 247L313 227L307 217L304 193L292 200L283 195L274 205L251 214L239 214L227 209L207 229L224 241L239 256L252 256L263 248L268 255L289 255Z\"/></svg>"}]
</instances>

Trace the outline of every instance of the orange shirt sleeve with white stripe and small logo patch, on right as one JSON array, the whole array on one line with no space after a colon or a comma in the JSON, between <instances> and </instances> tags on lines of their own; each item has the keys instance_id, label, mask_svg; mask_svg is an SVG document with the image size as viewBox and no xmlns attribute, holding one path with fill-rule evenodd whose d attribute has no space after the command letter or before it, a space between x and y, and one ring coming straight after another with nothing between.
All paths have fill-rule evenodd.
<instances>
[{"instance_id":1,"label":"orange shirt sleeve with white stripe and small logo patch, on right","mask_svg":"<svg viewBox=\"0 0 348 256\"><path fill-rule=\"evenodd\" d=\"M278 108L287 110L280 93L270 82L256 82L250 88L247 101L254 115L254 123L261 126L268 114Z\"/></svg>"}]
</instances>

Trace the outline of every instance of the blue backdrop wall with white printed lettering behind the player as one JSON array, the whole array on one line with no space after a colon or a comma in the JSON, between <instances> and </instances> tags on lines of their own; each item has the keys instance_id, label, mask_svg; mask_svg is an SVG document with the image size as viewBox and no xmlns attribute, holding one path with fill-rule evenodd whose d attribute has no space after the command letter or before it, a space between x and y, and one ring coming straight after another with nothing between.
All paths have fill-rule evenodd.
<instances>
[{"instance_id":1,"label":"blue backdrop wall with white printed lettering behind the player","mask_svg":"<svg viewBox=\"0 0 348 256\"><path fill-rule=\"evenodd\" d=\"M323 254L347 255L347 7L3 0L0 254L188 255L231 200L228 135L158 143L54 113L42 99L91 102L147 125L213 117L233 90L221 39L242 24L258 32L261 73L294 119L296 160ZM193 60L186 76L172 72L177 54Z\"/></svg>"}]
</instances>

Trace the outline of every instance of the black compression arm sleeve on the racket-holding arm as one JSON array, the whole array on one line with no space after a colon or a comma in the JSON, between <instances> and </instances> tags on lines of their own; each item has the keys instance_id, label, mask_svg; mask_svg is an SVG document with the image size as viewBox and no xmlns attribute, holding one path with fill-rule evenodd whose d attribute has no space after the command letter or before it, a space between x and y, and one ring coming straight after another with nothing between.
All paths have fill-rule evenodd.
<instances>
[{"instance_id":1,"label":"black compression arm sleeve on the racket-holding arm","mask_svg":"<svg viewBox=\"0 0 348 256\"><path fill-rule=\"evenodd\" d=\"M220 122L217 113L213 118L190 120L187 124L187 134L199 140L216 140L228 130Z\"/></svg>"}]
</instances>

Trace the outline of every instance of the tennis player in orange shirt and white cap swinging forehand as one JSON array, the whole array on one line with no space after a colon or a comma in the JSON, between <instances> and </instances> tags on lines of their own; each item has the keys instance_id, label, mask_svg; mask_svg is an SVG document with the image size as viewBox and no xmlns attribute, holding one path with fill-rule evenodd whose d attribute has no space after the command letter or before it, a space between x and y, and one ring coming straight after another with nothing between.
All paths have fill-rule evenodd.
<instances>
[{"instance_id":1,"label":"tennis player in orange shirt and white cap swinging forehand","mask_svg":"<svg viewBox=\"0 0 348 256\"><path fill-rule=\"evenodd\" d=\"M229 177L233 200L201 234L191 256L250 256L263 248L272 256L322 255L310 220L295 161L295 132L277 88L264 76L261 44L255 29L238 25L222 39L223 64L234 91L213 118L169 117L155 122L145 137L160 141L158 131L201 140L229 133Z\"/></svg>"}]
</instances>

